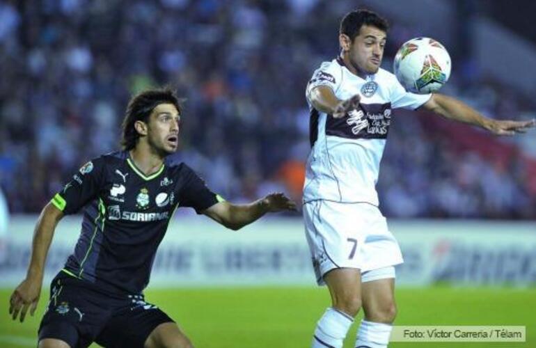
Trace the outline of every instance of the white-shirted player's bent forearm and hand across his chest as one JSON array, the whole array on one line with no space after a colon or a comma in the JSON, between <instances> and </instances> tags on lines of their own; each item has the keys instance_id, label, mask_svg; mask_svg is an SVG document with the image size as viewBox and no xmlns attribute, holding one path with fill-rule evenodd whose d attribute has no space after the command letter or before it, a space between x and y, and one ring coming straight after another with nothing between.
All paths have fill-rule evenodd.
<instances>
[{"instance_id":1,"label":"white-shirted player's bent forearm and hand across his chest","mask_svg":"<svg viewBox=\"0 0 536 348\"><path fill-rule=\"evenodd\" d=\"M357 109L359 100L361 100L358 94L347 100L339 100L328 86L314 88L311 90L309 98L315 109L329 113L333 118L342 118L347 112Z\"/></svg>"}]
</instances>

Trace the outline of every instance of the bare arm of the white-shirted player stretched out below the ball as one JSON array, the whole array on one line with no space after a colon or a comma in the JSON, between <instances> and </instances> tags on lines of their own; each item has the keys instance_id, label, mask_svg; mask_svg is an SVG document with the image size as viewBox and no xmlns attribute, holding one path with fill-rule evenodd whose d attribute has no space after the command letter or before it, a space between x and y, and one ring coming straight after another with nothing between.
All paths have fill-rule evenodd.
<instances>
[{"instance_id":1,"label":"bare arm of the white-shirted player stretched out below the ball","mask_svg":"<svg viewBox=\"0 0 536 348\"><path fill-rule=\"evenodd\" d=\"M432 97L425 102L423 108L450 120L482 127L496 135L524 133L527 129L536 126L536 120L534 119L528 121L491 120L482 116L478 111L464 102L439 93L432 94Z\"/></svg>"}]
</instances>

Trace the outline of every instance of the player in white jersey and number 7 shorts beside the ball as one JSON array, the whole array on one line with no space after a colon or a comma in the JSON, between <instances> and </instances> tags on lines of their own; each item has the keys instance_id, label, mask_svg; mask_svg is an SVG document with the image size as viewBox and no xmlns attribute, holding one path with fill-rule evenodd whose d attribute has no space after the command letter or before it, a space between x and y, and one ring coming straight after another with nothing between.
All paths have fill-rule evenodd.
<instances>
[{"instance_id":1,"label":"player in white jersey and number 7 shorts beside the ball","mask_svg":"<svg viewBox=\"0 0 536 348\"><path fill-rule=\"evenodd\" d=\"M331 307L317 322L313 348L342 347L363 307L355 347L386 347L396 315L396 264L402 254L379 211L375 185L391 123L391 109L422 108L498 135L524 132L535 120L484 118L438 93L408 93L379 68L388 24L368 10L347 13L340 24L340 56L310 79L310 142L304 184L304 220L319 285Z\"/></svg>"}]
</instances>

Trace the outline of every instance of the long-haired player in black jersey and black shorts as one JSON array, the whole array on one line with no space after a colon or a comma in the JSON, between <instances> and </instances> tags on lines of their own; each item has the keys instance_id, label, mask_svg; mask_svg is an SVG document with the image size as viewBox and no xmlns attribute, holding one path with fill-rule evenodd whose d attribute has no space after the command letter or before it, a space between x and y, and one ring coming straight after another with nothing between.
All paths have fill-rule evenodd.
<instances>
[{"instance_id":1,"label":"long-haired player in black jersey and black shorts","mask_svg":"<svg viewBox=\"0 0 536 348\"><path fill-rule=\"evenodd\" d=\"M152 262L178 207L192 207L237 230L267 212L296 209L283 193L246 205L226 202L184 163L178 147L181 108L172 90L133 97L123 121L123 151L88 161L42 210L26 278L9 312L24 321L36 310L54 229L84 209L81 234L51 284L39 347L192 347L173 319L145 302Z\"/></svg>"}]
</instances>

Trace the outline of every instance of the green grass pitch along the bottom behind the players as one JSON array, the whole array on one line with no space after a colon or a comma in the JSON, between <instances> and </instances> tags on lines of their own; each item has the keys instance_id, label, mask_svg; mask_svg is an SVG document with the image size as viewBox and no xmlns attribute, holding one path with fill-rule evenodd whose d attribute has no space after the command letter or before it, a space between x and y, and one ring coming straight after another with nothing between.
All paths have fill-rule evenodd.
<instances>
[{"instance_id":1,"label":"green grass pitch along the bottom behind the players","mask_svg":"<svg viewBox=\"0 0 536 348\"><path fill-rule=\"evenodd\" d=\"M8 317L9 290L0 290L0 347L16 345L36 331L47 299L24 324ZM179 323L197 348L310 347L317 319L329 306L325 288L240 288L148 290L146 300ZM389 347L536 347L536 290L397 290L399 325L524 325L526 343L392 343ZM361 315L359 316L361 317ZM358 322L358 321L357 321ZM345 342L354 347L356 324ZM35 345L34 345L35 347Z\"/></svg>"}]
</instances>

